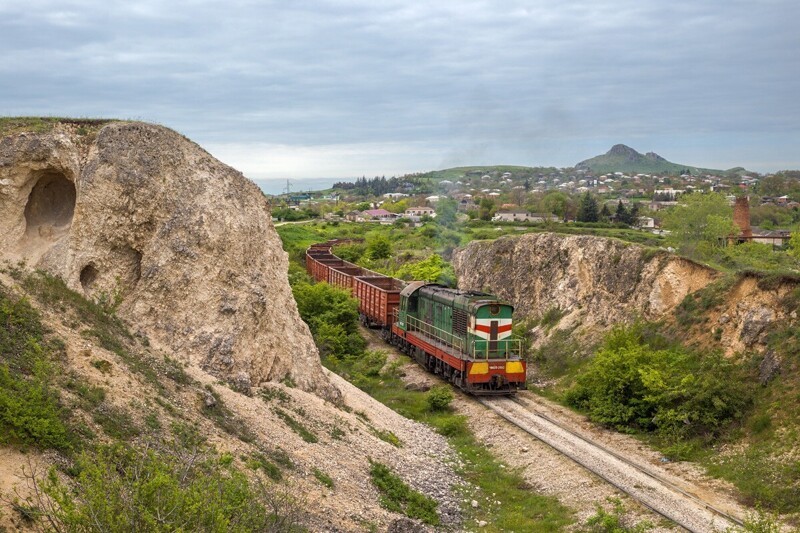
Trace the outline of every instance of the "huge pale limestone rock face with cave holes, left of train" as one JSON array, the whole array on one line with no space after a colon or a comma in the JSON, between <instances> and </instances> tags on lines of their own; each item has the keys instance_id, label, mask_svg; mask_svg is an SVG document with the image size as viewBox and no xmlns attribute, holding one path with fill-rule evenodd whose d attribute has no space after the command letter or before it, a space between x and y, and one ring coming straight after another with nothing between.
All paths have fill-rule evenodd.
<instances>
[{"instance_id":1,"label":"huge pale limestone rock face with cave holes, left of train","mask_svg":"<svg viewBox=\"0 0 800 533\"><path fill-rule=\"evenodd\" d=\"M0 255L119 304L134 330L238 387L337 399L258 187L163 127L0 140Z\"/></svg>"}]
</instances>

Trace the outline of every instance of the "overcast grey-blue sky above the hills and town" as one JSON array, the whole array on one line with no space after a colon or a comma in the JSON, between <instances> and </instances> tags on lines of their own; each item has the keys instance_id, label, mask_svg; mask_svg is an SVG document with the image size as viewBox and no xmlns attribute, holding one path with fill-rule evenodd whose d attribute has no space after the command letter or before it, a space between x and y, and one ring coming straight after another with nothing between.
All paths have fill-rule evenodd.
<instances>
[{"instance_id":1,"label":"overcast grey-blue sky above the hills and town","mask_svg":"<svg viewBox=\"0 0 800 533\"><path fill-rule=\"evenodd\" d=\"M251 178L800 168L797 0L0 0L0 115L178 130Z\"/></svg>"}]
</instances>

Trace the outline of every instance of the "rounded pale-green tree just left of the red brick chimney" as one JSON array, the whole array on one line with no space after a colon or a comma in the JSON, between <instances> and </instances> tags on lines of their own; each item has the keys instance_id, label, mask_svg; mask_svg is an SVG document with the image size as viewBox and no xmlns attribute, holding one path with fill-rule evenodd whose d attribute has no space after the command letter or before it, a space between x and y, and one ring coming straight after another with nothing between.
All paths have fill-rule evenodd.
<instances>
[{"instance_id":1,"label":"rounded pale-green tree just left of the red brick chimney","mask_svg":"<svg viewBox=\"0 0 800 533\"><path fill-rule=\"evenodd\" d=\"M726 244L726 238L739 233L733 223L733 208L728 199L719 193L687 194L671 208L662 220L670 239L684 250L717 247Z\"/></svg>"}]
</instances>

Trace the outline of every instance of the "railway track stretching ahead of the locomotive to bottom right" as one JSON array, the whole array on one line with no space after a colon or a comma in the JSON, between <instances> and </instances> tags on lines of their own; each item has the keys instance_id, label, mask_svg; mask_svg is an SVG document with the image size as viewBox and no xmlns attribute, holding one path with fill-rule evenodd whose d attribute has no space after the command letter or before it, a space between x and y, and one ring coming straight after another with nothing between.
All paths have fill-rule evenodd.
<instances>
[{"instance_id":1,"label":"railway track stretching ahead of the locomotive to bottom right","mask_svg":"<svg viewBox=\"0 0 800 533\"><path fill-rule=\"evenodd\" d=\"M519 398L479 398L478 401L645 507L688 531L724 532L742 525L739 518L680 487L652 466L623 457L535 408L531 409Z\"/></svg>"}]
</instances>

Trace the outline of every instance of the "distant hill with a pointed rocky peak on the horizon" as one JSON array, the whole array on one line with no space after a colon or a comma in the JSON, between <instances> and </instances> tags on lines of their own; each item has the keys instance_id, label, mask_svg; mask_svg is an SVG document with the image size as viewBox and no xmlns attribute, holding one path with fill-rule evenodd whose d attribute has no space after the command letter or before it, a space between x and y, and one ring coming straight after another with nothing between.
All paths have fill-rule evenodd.
<instances>
[{"instance_id":1,"label":"distant hill with a pointed rocky peak on the horizon","mask_svg":"<svg viewBox=\"0 0 800 533\"><path fill-rule=\"evenodd\" d=\"M693 167L671 163L654 152L640 154L624 144L617 144L603 155L581 161L575 168L591 170L595 174L625 172L633 174L676 174L688 170L692 174L724 174L724 170Z\"/></svg>"}]
</instances>

